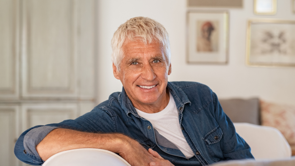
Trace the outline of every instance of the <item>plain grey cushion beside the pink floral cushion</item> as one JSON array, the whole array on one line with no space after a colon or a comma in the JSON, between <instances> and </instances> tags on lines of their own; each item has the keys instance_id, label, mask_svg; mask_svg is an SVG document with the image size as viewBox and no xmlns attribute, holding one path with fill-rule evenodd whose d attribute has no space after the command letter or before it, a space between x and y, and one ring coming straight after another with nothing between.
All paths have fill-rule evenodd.
<instances>
[{"instance_id":1,"label":"plain grey cushion beside the pink floral cushion","mask_svg":"<svg viewBox=\"0 0 295 166\"><path fill-rule=\"evenodd\" d=\"M223 111L232 122L260 125L259 99L219 99Z\"/></svg>"}]
</instances>

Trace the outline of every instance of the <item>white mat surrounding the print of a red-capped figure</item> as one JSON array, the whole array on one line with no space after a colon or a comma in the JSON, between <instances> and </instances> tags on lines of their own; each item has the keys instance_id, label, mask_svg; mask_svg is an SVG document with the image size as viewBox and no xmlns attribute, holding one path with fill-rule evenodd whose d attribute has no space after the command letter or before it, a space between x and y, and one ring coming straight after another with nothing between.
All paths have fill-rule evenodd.
<instances>
[{"instance_id":1,"label":"white mat surrounding the print of a red-capped figure","mask_svg":"<svg viewBox=\"0 0 295 166\"><path fill-rule=\"evenodd\" d=\"M188 30L188 61L189 62L208 62L208 63L226 63L227 62L227 31L228 14L223 13L189 13ZM197 21L218 22L218 51L216 52L197 52Z\"/></svg>"}]
</instances>

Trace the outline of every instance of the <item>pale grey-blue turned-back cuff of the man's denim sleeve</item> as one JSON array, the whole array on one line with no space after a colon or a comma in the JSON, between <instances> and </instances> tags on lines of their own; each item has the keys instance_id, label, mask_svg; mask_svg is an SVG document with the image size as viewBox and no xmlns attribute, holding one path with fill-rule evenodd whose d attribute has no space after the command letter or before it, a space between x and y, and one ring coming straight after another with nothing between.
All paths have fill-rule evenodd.
<instances>
[{"instance_id":1,"label":"pale grey-blue turned-back cuff of the man's denim sleeve","mask_svg":"<svg viewBox=\"0 0 295 166\"><path fill-rule=\"evenodd\" d=\"M33 128L24 136L24 149L27 153L33 154L36 157L40 157L36 146L47 136L47 134L58 127L41 126Z\"/></svg>"}]
</instances>

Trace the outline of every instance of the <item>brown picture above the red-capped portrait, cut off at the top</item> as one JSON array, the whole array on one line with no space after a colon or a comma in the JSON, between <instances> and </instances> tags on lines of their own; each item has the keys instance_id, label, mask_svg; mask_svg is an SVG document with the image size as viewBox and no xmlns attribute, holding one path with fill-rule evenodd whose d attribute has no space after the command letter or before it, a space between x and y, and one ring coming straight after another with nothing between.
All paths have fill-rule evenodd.
<instances>
[{"instance_id":1,"label":"brown picture above the red-capped portrait, cut off at the top","mask_svg":"<svg viewBox=\"0 0 295 166\"><path fill-rule=\"evenodd\" d=\"M242 8L243 0L187 0L188 7Z\"/></svg>"}]
</instances>

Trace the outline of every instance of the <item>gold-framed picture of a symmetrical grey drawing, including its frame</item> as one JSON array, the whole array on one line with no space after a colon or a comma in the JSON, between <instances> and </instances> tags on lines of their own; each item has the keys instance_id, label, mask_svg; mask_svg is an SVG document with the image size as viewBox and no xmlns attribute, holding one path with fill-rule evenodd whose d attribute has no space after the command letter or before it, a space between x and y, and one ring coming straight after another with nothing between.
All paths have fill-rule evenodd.
<instances>
[{"instance_id":1,"label":"gold-framed picture of a symmetrical grey drawing, including its frame","mask_svg":"<svg viewBox=\"0 0 295 166\"><path fill-rule=\"evenodd\" d=\"M295 66L295 21L253 19L248 21L246 64Z\"/></svg>"}]
</instances>

